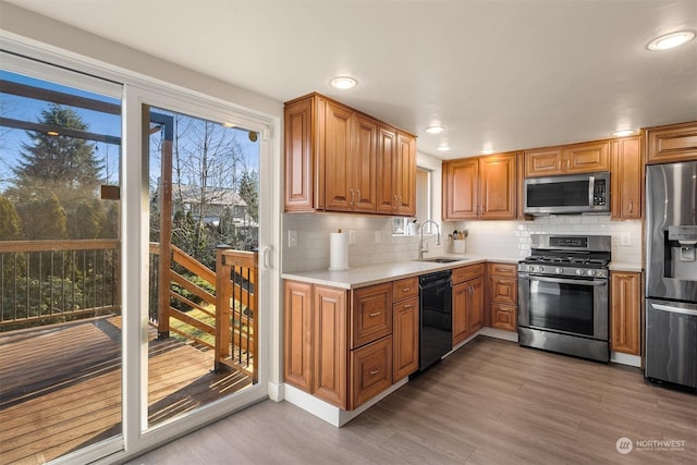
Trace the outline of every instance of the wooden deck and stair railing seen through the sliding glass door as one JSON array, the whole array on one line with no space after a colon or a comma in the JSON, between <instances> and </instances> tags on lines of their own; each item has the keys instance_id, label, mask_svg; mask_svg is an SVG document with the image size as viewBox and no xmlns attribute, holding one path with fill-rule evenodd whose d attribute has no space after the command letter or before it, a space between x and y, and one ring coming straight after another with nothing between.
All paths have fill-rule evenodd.
<instances>
[{"instance_id":1,"label":"wooden deck and stair railing seen through the sliding glass door","mask_svg":"<svg viewBox=\"0 0 697 465\"><path fill-rule=\"evenodd\" d=\"M256 380L258 254L220 246L212 271L170 247L161 280L160 246L150 244L150 323L160 336L172 332L213 350L217 370ZM119 267L117 240L1 241L0 331L120 314Z\"/></svg>"}]
</instances>

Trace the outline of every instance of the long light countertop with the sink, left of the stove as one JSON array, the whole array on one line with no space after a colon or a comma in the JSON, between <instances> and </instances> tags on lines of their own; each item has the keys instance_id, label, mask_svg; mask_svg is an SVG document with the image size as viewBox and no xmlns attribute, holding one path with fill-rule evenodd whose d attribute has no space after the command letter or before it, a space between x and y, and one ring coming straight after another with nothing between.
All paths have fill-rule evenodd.
<instances>
[{"instance_id":1,"label":"long light countertop with the sink, left of the stove","mask_svg":"<svg viewBox=\"0 0 697 465\"><path fill-rule=\"evenodd\" d=\"M476 255L453 255L444 254L439 257L456 258L458 261L450 264L436 264L429 261L405 260L365 267L351 268L344 271L337 270L314 270L293 271L282 273L281 278L294 281L303 281L313 284L329 285L340 289L356 289L367 285L379 284L381 282L394 281L403 278L411 278L426 274L433 271L448 270L468 265L481 264L485 261L497 261L506 264L517 264L517 259L498 259L481 257ZM430 258L430 257L425 257Z\"/></svg>"}]
</instances>

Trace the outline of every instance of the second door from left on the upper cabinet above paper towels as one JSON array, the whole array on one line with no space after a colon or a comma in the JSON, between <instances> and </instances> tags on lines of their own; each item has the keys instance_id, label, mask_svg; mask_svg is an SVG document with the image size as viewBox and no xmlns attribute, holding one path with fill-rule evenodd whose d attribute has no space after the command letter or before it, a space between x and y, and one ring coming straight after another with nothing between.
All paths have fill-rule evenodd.
<instances>
[{"instance_id":1,"label":"second door from left on the upper cabinet above paper towels","mask_svg":"<svg viewBox=\"0 0 697 465\"><path fill-rule=\"evenodd\" d=\"M375 213L377 208L378 122L355 114L354 142L351 151L350 189L353 209Z\"/></svg>"}]
</instances>

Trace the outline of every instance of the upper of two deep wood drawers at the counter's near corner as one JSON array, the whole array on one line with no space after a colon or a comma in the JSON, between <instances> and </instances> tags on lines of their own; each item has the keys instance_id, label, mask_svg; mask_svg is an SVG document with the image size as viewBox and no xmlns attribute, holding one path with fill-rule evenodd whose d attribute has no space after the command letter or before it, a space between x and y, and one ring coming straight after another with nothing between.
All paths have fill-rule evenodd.
<instances>
[{"instance_id":1,"label":"upper of two deep wood drawers at the counter's near corner","mask_svg":"<svg viewBox=\"0 0 697 465\"><path fill-rule=\"evenodd\" d=\"M392 283L355 290L351 306L351 348L389 334L392 334Z\"/></svg>"}]
</instances>

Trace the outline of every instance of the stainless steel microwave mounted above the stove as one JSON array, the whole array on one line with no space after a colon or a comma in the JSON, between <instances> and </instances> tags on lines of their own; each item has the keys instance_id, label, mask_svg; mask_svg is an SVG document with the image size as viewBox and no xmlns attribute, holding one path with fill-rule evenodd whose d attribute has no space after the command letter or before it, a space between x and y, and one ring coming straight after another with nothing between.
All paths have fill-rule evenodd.
<instances>
[{"instance_id":1,"label":"stainless steel microwave mounted above the stove","mask_svg":"<svg viewBox=\"0 0 697 465\"><path fill-rule=\"evenodd\" d=\"M526 215L606 213L610 173L584 173L525 180Z\"/></svg>"}]
</instances>

